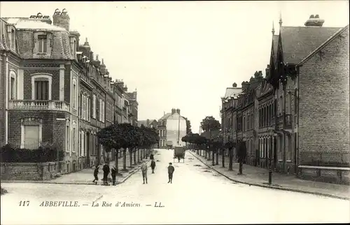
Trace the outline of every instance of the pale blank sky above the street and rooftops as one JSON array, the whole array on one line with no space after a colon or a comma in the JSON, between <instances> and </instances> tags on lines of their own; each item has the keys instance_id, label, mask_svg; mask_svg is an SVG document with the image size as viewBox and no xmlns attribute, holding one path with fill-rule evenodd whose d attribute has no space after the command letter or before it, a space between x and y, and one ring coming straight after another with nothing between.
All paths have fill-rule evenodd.
<instances>
[{"instance_id":1,"label":"pale blank sky above the street and rooftops","mask_svg":"<svg viewBox=\"0 0 350 225\"><path fill-rule=\"evenodd\" d=\"M311 14L323 27L349 24L349 1L6 1L1 17L52 15L63 8L70 29L87 38L113 80L137 89L139 120L172 108L193 133L208 115L221 122L221 97L269 63L272 23L304 26Z\"/></svg>"}]
</instances>

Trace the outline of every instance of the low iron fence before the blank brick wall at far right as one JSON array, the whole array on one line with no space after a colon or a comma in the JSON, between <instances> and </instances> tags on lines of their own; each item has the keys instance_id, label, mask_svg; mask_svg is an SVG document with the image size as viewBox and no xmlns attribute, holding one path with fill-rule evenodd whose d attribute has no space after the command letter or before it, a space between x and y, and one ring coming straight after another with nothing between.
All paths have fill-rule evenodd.
<instances>
[{"instance_id":1,"label":"low iron fence before the blank brick wall at far right","mask_svg":"<svg viewBox=\"0 0 350 225\"><path fill-rule=\"evenodd\" d=\"M346 151L302 151L300 152L300 165L350 167L349 154L350 152Z\"/></svg>"}]
</instances>

